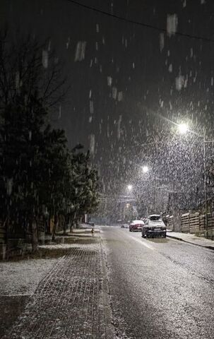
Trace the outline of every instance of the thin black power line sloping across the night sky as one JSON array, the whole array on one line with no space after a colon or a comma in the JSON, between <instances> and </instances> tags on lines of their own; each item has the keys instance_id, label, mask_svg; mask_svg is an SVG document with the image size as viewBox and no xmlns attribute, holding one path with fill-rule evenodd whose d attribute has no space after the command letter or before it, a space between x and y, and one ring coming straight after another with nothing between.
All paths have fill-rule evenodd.
<instances>
[{"instance_id":1,"label":"thin black power line sloping across the night sky","mask_svg":"<svg viewBox=\"0 0 214 339\"><path fill-rule=\"evenodd\" d=\"M122 16L117 16L116 14L112 14L112 13L109 13L109 12L106 12L106 11L102 11L101 9L95 8L93 6L81 4L80 2L75 1L75 0L67 0L67 1L71 2L72 4L74 4L76 6L80 6L80 7L86 8L90 11L94 11L94 12L100 13L100 14L105 15L105 16L110 16L112 18L115 18L115 19L118 19L118 20L121 20L121 21L125 21L126 23L133 23L134 25L139 25L141 27L151 28L151 29L157 30L159 32L167 33L167 30L165 28L160 28L160 27L156 27L156 26L153 26L153 25L148 25L147 23L141 23L140 21L135 21L135 20L124 18ZM181 37L189 37L190 39L203 40L203 41L206 41L206 42L214 42L214 40L210 39L209 37L200 37L198 35L191 35L191 34L182 33L182 32L174 32L173 34L179 35Z\"/></svg>"}]
</instances>

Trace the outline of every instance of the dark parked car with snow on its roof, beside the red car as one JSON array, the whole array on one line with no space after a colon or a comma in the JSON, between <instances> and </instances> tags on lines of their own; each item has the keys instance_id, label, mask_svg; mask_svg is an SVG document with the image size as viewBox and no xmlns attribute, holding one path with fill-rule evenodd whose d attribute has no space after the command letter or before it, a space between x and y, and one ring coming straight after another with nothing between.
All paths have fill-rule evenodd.
<instances>
[{"instance_id":1,"label":"dark parked car with snow on its roof, beside the red car","mask_svg":"<svg viewBox=\"0 0 214 339\"><path fill-rule=\"evenodd\" d=\"M167 236L167 227L162 221L159 214L149 215L148 219L145 222L145 225L142 227L142 237L166 237Z\"/></svg>"}]
</instances>

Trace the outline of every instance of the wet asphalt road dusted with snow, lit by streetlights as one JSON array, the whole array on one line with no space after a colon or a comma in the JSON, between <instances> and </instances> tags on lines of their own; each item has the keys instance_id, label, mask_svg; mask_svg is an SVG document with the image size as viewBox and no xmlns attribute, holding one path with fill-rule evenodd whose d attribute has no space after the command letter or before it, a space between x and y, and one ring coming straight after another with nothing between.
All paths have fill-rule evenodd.
<instances>
[{"instance_id":1,"label":"wet asphalt road dusted with snow, lit by streetlights","mask_svg":"<svg viewBox=\"0 0 214 339\"><path fill-rule=\"evenodd\" d=\"M118 338L214 338L214 251L119 227L102 238Z\"/></svg>"}]
</instances>

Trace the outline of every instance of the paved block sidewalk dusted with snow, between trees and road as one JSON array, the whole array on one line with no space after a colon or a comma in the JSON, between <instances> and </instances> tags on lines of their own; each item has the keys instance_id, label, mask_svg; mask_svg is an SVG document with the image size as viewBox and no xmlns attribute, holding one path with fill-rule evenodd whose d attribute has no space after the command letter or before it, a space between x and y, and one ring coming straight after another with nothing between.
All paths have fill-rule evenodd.
<instances>
[{"instance_id":1,"label":"paved block sidewalk dusted with snow, between trees and road","mask_svg":"<svg viewBox=\"0 0 214 339\"><path fill-rule=\"evenodd\" d=\"M113 339L108 293L100 237L72 244L3 338Z\"/></svg>"}]
</instances>

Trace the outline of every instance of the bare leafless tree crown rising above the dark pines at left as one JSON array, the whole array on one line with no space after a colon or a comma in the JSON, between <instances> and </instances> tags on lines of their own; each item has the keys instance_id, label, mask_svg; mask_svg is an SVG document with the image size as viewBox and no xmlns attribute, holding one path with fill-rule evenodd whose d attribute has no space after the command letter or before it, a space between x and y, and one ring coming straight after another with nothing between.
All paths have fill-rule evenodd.
<instances>
[{"instance_id":1,"label":"bare leafless tree crown rising above the dark pines at left","mask_svg":"<svg viewBox=\"0 0 214 339\"><path fill-rule=\"evenodd\" d=\"M56 53L47 52L47 40L41 44L31 35L10 40L8 31L0 32L0 109L25 96L25 105L37 93L43 105L52 107L66 94L63 65L56 63ZM47 67L42 52L47 52Z\"/></svg>"}]
</instances>

